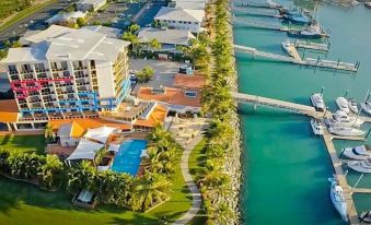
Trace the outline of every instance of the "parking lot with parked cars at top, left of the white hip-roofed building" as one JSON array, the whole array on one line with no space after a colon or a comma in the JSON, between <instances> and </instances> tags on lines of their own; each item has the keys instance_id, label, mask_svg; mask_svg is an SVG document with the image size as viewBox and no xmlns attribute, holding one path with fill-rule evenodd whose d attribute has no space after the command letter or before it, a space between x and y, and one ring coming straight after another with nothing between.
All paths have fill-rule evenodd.
<instances>
[{"instance_id":1,"label":"parking lot with parked cars at top, left of the white hip-roofed building","mask_svg":"<svg viewBox=\"0 0 371 225\"><path fill-rule=\"evenodd\" d=\"M94 22L112 23L113 27L123 29L130 25L131 17L143 7L143 3L109 3L104 11L95 12L89 20L89 24Z\"/></svg>"}]
</instances>

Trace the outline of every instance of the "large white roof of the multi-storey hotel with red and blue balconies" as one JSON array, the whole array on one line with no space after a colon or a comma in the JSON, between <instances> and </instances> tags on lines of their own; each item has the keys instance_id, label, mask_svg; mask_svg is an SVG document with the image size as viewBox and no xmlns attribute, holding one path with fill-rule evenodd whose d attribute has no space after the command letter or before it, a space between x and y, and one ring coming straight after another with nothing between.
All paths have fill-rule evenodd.
<instances>
[{"instance_id":1,"label":"large white roof of the multi-storey hotel with red and blue balconies","mask_svg":"<svg viewBox=\"0 0 371 225\"><path fill-rule=\"evenodd\" d=\"M109 38L86 28L72 29L51 25L47 29L23 38L31 47L10 48L1 62L32 62L39 60L104 60L113 61L129 42Z\"/></svg>"}]
</instances>

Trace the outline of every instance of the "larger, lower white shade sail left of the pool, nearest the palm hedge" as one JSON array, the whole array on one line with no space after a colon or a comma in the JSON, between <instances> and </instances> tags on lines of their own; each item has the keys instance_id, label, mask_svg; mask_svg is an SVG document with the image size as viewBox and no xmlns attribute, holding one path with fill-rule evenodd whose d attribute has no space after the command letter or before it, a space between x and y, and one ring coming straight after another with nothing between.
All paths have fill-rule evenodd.
<instances>
[{"instance_id":1,"label":"larger, lower white shade sail left of the pool, nearest the palm hedge","mask_svg":"<svg viewBox=\"0 0 371 225\"><path fill-rule=\"evenodd\" d=\"M79 145L66 161L94 159L96 152L104 147L104 144L81 139Z\"/></svg>"}]
</instances>

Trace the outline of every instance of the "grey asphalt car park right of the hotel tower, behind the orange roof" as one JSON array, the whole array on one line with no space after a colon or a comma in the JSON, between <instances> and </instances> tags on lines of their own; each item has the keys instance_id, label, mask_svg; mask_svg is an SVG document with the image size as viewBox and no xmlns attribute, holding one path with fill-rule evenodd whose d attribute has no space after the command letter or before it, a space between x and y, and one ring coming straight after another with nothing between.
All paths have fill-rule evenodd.
<instances>
[{"instance_id":1,"label":"grey asphalt car park right of the hotel tower, behind the orange roof","mask_svg":"<svg viewBox=\"0 0 371 225\"><path fill-rule=\"evenodd\" d=\"M154 70L154 75L152 80L148 83L137 84L132 90L132 95L137 95L140 86L174 86L175 74L178 73L179 67L182 67L183 64L184 63L174 61L130 59L130 70L139 71L142 70L146 66L150 66Z\"/></svg>"}]
</instances>

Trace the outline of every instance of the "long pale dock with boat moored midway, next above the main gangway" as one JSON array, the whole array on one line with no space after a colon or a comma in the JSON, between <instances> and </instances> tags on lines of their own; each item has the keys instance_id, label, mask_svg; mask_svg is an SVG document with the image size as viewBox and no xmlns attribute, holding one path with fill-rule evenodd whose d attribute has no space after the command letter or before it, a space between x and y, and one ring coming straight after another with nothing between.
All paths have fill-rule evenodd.
<instances>
[{"instance_id":1,"label":"long pale dock with boat moored midway, next above the main gangway","mask_svg":"<svg viewBox=\"0 0 371 225\"><path fill-rule=\"evenodd\" d=\"M278 54L270 54L262 50L257 50L256 48L241 46L241 45L234 45L234 49L236 51L247 52L255 56L282 61L282 62L291 62L294 64L300 66L308 66L308 67L314 67L314 68L324 68L324 69L333 69L335 71L343 70L348 72L357 72L358 68L360 66L360 62L350 63L350 62L341 62L338 61L332 61L332 60L324 60L324 59L312 59L312 58L305 58L302 59L297 50L295 44L290 44L290 52L291 57L289 56L282 56Z\"/></svg>"}]
</instances>

